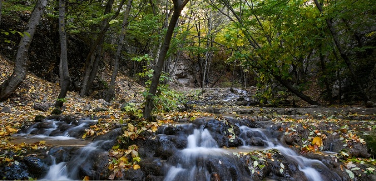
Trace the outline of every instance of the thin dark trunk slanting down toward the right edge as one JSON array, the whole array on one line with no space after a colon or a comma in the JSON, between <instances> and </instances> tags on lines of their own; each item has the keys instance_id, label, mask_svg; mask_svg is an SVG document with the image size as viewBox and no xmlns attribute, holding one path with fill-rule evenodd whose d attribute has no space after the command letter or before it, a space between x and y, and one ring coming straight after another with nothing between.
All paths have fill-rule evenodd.
<instances>
[{"instance_id":1,"label":"thin dark trunk slanting down toward the right edge","mask_svg":"<svg viewBox=\"0 0 376 181\"><path fill-rule=\"evenodd\" d=\"M320 11L321 13L323 13L323 9L322 9L320 3L318 2L318 0L314 0L314 2L315 2L315 4L316 4L316 7L319 9L319 11ZM339 42L338 34L337 34L337 32L335 31L334 26L333 26L331 20L328 19L328 18L326 18L325 20L326 20L326 24L327 24L328 27L329 27L330 33L331 33L332 36L333 36L333 40L334 40L335 46L337 47L338 52L339 52L340 56L342 57L344 63L346 63L347 67L349 68L349 70L350 70L350 74L351 74L351 76L352 76L352 78L353 78L354 83L356 83L356 84L358 85L358 88L359 88L359 90L360 90L360 93L362 94L361 96L363 97L364 102L368 101L368 98L367 98L367 96L366 96L366 94L365 94L365 92L364 92L364 89L363 89L363 87L362 87L362 84L360 83L360 81L359 81L358 78L356 77L355 70L354 70L353 66L351 65L350 58L349 58L349 57L347 56L347 54L344 52L344 50L343 50L343 48L342 48L342 46L341 46L341 44L340 44L340 42Z\"/></svg>"}]
</instances>

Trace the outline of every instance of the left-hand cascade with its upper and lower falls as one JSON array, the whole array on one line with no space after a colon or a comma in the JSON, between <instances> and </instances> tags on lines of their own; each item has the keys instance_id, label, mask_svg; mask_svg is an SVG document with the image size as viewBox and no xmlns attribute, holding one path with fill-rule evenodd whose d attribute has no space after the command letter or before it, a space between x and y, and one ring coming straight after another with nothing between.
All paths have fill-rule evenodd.
<instances>
[{"instance_id":1,"label":"left-hand cascade with its upper and lower falls","mask_svg":"<svg viewBox=\"0 0 376 181\"><path fill-rule=\"evenodd\" d=\"M74 121L61 121L47 119L42 122L23 128L20 133L13 137L19 142L36 141L43 139L47 144L54 145L48 156L51 165L42 180L76 180L82 179L81 175L98 175L96 170L85 170L92 167L92 162L98 155L107 155L109 142L113 140L98 140L92 143L77 139L90 125L98 120L79 119ZM75 137L73 137L75 136ZM81 148L80 148L81 147ZM59 160L59 161L57 161ZM88 165L88 166L87 166ZM99 176L98 176L99 177ZM93 177L90 177L93 179Z\"/></svg>"}]
</instances>

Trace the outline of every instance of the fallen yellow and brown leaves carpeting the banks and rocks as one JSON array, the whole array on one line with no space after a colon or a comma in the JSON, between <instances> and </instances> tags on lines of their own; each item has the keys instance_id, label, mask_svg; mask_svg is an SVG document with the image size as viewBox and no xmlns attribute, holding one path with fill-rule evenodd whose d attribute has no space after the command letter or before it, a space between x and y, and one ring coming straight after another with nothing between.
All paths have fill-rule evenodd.
<instances>
[{"instance_id":1,"label":"fallen yellow and brown leaves carpeting the banks and rocks","mask_svg":"<svg viewBox=\"0 0 376 181\"><path fill-rule=\"evenodd\" d=\"M12 73L12 64L0 58L0 82L4 81ZM84 114L92 117L106 115L106 119L100 118L96 125L86 129L82 139L90 140L98 135L111 131L116 125L123 127L123 133L118 138L118 145L115 145L109 151L112 158L109 161L109 168L112 170L110 178L121 177L122 171L129 168L139 169L137 164L140 161L137 145L131 145L123 148L122 142L127 139L142 139L147 137L147 133L155 132L161 124L173 122L190 122L203 116L214 116L211 113L197 111L190 112L160 112L155 122L147 122L141 119L132 118L132 113L139 109L138 104L132 105L132 109L120 110L120 102L136 100L142 102L142 95L135 94L144 91L144 88L134 82L132 79L120 75L116 84L116 97L106 110L95 112L92 109L84 110L84 106L90 104L92 108L103 107L103 101L93 97L81 98L77 93L69 92L66 103L64 104L63 114ZM132 85L132 86L130 86ZM14 96L5 102L0 103L0 107L9 107L10 112L0 112L0 163L17 164L15 157L22 155L29 150L48 149L49 145L41 140L33 144L13 143L11 134L16 133L22 125L28 125L35 121L36 116L48 116L52 108L48 111L34 109L35 103L54 103L59 93L59 86L56 83L47 82L32 74L27 74L26 79L17 89ZM197 91L191 91L193 96L197 96ZM235 113L236 114L236 113ZM235 116L235 114L233 116ZM259 115L265 116L265 115ZM335 162L340 163L340 169L346 172L350 178L364 177L364 175L375 174L376 161L376 123L374 120L342 120L332 116L323 116L322 119L304 118L293 119L287 116L273 115L271 123L276 131L285 135L284 142L291 148L300 151L302 154L325 155L323 150L328 150L333 141L339 142L339 153L335 156ZM220 118L218 118L220 119ZM331 140L331 139L336 140ZM354 147L367 145L365 152L354 152ZM9 157L9 152L13 156ZM250 168L253 172L261 171L263 168L262 159L273 159L272 154L275 150L254 151L239 153L239 157L252 155L251 160L254 167ZM367 154L370 153L370 154ZM283 166L280 165L281 169ZM258 170L259 169L259 170Z\"/></svg>"}]
</instances>

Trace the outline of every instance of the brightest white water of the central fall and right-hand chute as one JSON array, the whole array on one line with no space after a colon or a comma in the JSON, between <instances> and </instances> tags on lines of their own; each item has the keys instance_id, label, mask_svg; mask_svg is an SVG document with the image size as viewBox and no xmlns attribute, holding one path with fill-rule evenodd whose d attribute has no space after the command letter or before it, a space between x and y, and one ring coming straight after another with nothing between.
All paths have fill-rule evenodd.
<instances>
[{"instance_id":1,"label":"brightest white water of the central fall and right-hand chute","mask_svg":"<svg viewBox=\"0 0 376 181\"><path fill-rule=\"evenodd\" d=\"M279 145L277 140L267 137L261 129L249 128L247 126L239 126L239 128L241 131L239 138L247 138L250 135L259 138L266 143L264 147L259 147L259 150L277 149L286 158L298 165L298 169L304 173L306 179L311 181L323 180L320 172L312 167L313 165L320 165L323 168L327 168L321 161L305 158L295 153L292 149ZM241 149L255 150L255 146L249 146L243 140L243 147ZM164 180L196 180L197 177L195 177L195 174L197 174L198 170L205 175L206 180L210 180L211 175L209 171L197 164L197 160L224 153L228 154L227 151L218 148L207 129L195 129L194 133L187 137L187 148L177 153L182 161L178 164L170 165ZM186 165L191 165L191 167Z\"/></svg>"}]
</instances>

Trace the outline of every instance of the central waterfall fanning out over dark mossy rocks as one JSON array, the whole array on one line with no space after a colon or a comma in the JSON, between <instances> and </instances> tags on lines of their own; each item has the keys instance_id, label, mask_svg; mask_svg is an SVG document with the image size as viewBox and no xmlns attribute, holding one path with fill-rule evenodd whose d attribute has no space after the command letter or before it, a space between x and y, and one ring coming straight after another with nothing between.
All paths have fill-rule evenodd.
<instances>
[{"instance_id":1,"label":"central waterfall fanning out over dark mossy rocks","mask_svg":"<svg viewBox=\"0 0 376 181\"><path fill-rule=\"evenodd\" d=\"M234 164L230 168L220 168L214 166L213 162ZM216 171L221 169L228 169L228 175L222 175L224 180L247 180L243 177L244 170L238 165L238 160L218 148L210 132L201 126L187 137L187 147L168 159L165 165L168 171L164 180L210 180L215 178Z\"/></svg>"}]
</instances>

